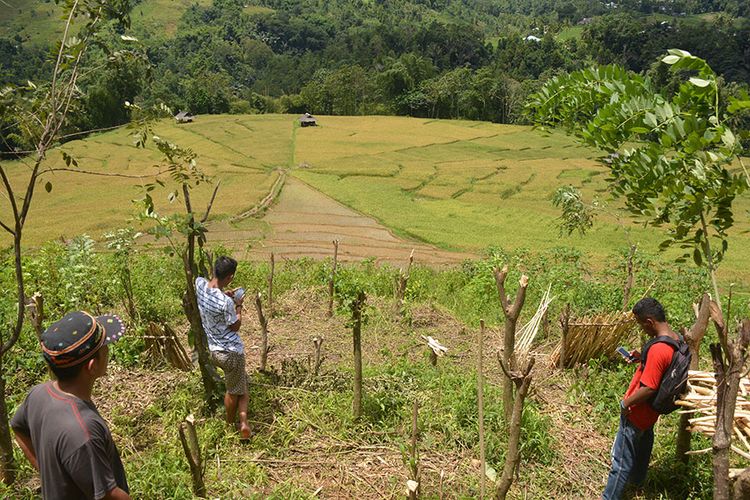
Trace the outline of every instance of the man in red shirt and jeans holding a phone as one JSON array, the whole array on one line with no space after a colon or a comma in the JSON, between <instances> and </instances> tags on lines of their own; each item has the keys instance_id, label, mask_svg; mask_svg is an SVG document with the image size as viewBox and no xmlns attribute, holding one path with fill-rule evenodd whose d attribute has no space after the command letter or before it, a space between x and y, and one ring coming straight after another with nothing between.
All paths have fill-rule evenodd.
<instances>
[{"instance_id":1,"label":"man in red shirt and jeans holding a phone","mask_svg":"<svg viewBox=\"0 0 750 500\"><path fill-rule=\"evenodd\" d=\"M638 301L633 307L633 316L651 338L680 339L669 327L664 308L655 299L648 297ZM654 424L659 418L650 402L659 389L665 370L672 363L673 354L672 346L656 342L649 348L644 365L641 353L631 352L630 362L639 364L624 399L620 401L620 428L612 445L612 469L602 494L603 500L619 499L627 483L639 486L646 479L654 444Z\"/></svg>"}]
</instances>

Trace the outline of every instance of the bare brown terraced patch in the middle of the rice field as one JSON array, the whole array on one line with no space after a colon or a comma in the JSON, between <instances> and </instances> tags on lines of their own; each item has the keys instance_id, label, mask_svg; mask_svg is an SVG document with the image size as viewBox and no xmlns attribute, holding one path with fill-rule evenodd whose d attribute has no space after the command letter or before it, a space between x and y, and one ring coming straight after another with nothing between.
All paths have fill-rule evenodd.
<instances>
[{"instance_id":1,"label":"bare brown terraced patch in the middle of the rice field","mask_svg":"<svg viewBox=\"0 0 750 500\"><path fill-rule=\"evenodd\" d=\"M333 200L294 177L287 177L279 199L261 219L265 231L247 231L228 223L211 229L212 242L223 244L242 258L326 258L338 239L339 259L403 264L414 249L416 262L459 263L476 256L440 250L394 236L385 226ZM264 232L265 234L262 234ZM255 240L255 241L252 241Z\"/></svg>"}]
</instances>

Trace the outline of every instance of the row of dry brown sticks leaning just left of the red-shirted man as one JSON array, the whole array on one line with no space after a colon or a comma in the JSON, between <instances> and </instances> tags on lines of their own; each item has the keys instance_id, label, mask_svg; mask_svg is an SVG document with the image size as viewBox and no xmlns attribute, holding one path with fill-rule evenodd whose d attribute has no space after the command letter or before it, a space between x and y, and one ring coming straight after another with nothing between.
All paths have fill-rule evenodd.
<instances>
[{"instance_id":1,"label":"row of dry brown sticks leaning just left of the red-shirted man","mask_svg":"<svg viewBox=\"0 0 750 500\"><path fill-rule=\"evenodd\" d=\"M563 323L562 339L551 355L551 362L563 368L602 355L615 357L618 346L632 350L639 341L635 320L629 312L569 318Z\"/></svg>"}]
</instances>

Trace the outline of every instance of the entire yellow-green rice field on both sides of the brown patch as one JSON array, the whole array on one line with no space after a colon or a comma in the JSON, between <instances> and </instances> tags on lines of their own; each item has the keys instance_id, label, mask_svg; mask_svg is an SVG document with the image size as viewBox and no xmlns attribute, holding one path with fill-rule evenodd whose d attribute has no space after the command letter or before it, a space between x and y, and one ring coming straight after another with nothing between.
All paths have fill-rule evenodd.
<instances>
[{"instance_id":1,"label":"entire yellow-green rice field on both sides of the brown patch","mask_svg":"<svg viewBox=\"0 0 750 500\"><path fill-rule=\"evenodd\" d=\"M531 251L574 247L595 265L636 242L656 253L664 232L628 219L609 200L606 169L597 153L562 133L484 122L403 117L320 117L316 128L294 127L293 116L199 116L192 124L164 122L156 133L198 154L199 165L222 185L214 217L254 206L276 179L277 167L371 215L402 237L480 253L489 246ZM132 146L125 129L75 141L64 149L80 168L102 173L155 172L158 153ZM49 164L62 166L59 152ZM10 165L14 181L25 169ZM26 237L30 244L86 232L99 238L120 227L139 197L132 179L56 173L51 193L37 191ZM579 187L588 200L606 202L586 236L559 234L552 193ZM210 188L196 192L198 206ZM170 207L166 191L157 200ZM750 230L750 197L736 202L737 224L722 278L750 282L750 252L742 244ZM91 215L88 215L91 214ZM619 214L619 215L618 215ZM7 239L3 240L7 243ZM673 258L677 252L667 254Z\"/></svg>"}]
</instances>

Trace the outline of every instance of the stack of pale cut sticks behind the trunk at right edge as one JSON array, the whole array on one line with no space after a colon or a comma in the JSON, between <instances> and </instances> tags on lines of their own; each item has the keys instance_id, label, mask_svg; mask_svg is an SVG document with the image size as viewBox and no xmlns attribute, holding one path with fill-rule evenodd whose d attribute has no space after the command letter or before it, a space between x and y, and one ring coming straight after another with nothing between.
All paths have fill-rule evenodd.
<instances>
[{"instance_id":1,"label":"stack of pale cut sticks behind the trunk at right edge","mask_svg":"<svg viewBox=\"0 0 750 500\"><path fill-rule=\"evenodd\" d=\"M690 371L688 391L676 402L681 406L680 413L692 413L689 420L690 432L700 432L713 436L716 428L716 377L713 372ZM732 450L750 459L750 379L740 379L740 390L737 393L737 406L734 412L734 438ZM696 450L690 453L709 452Z\"/></svg>"}]
</instances>

